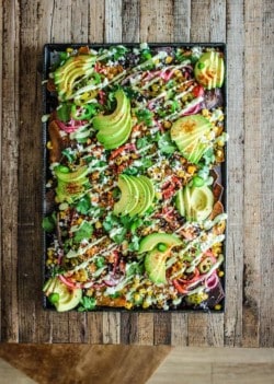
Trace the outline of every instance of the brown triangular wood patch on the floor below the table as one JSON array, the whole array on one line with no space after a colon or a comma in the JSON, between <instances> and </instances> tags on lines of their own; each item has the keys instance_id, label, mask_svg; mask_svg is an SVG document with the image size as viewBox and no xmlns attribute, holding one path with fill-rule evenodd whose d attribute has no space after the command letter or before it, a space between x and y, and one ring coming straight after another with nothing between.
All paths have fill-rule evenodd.
<instances>
[{"instance_id":1,"label":"brown triangular wood patch on the floor below the table","mask_svg":"<svg viewBox=\"0 0 274 384\"><path fill-rule=\"evenodd\" d=\"M140 384L170 350L168 346L5 345L0 358L36 383Z\"/></svg>"}]
</instances>

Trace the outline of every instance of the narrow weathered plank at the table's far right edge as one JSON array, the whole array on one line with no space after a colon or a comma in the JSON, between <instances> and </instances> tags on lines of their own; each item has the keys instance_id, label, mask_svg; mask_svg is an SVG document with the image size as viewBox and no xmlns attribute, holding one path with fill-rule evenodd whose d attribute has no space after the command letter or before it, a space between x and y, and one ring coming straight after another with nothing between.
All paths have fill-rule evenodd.
<instances>
[{"instance_id":1,"label":"narrow weathered plank at the table's far right edge","mask_svg":"<svg viewBox=\"0 0 274 384\"><path fill-rule=\"evenodd\" d=\"M274 347L274 2L262 3L261 48L261 287L260 347Z\"/></svg>"}]
</instances>

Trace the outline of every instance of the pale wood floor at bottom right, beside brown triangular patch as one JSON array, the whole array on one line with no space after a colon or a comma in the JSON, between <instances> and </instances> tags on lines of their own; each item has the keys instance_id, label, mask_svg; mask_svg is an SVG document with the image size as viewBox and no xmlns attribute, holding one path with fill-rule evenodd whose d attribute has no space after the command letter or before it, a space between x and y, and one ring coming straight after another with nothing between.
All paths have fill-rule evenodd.
<instances>
[{"instance_id":1,"label":"pale wood floor at bottom right, beside brown triangular patch","mask_svg":"<svg viewBox=\"0 0 274 384\"><path fill-rule=\"evenodd\" d=\"M147 384L272 384L273 349L174 348Z\"/></svg>"}]
</instances>

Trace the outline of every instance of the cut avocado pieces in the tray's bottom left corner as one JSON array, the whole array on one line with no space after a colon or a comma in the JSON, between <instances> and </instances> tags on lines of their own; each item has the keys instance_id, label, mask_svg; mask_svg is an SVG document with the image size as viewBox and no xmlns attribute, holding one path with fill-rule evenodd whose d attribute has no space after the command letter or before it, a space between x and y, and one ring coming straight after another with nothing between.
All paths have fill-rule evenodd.
<instances>
[{"instance_id":1,"label":"cut avocado pieces in the tray's bottom left corner","mask_svg":"<svg viewBox=\"0 0 274 384\"><path fill-rule=\"evenodd\" d=\"M46 296L57 294L57 300L53 302L58 312L70 311L76 307L82 298L82 290L79 288L69 289L65 286L58 277L50 278L43 288Z\"/></svg>"}]
</instances>

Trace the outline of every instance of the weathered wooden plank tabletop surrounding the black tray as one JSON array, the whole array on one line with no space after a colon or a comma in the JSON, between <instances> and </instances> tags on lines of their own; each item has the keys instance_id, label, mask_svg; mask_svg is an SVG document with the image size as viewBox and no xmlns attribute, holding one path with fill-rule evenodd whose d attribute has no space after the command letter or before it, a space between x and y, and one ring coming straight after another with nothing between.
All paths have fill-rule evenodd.
<instances>
[{"instance_id":1,"label":"weathered wooden plank tabletop surrounding the black tray","mask_svg":"<svg viewBox=\"0 0 274 384\"><path fill-rule=\"evenodd\" d=\"M2 0L1 341L273 347L272 0ZM42 309L41 68L45 43L225 42L225 314L57 314Z\"/></svg>"}]
</instances>

